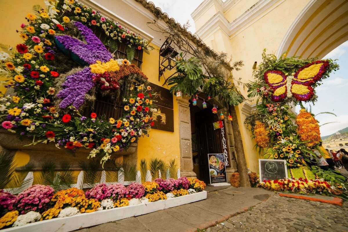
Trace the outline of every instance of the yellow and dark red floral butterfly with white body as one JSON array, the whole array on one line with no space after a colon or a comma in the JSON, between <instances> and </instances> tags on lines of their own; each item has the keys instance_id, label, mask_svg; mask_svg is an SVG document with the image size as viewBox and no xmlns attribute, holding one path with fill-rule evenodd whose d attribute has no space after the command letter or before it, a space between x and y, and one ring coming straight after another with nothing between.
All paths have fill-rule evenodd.
<instances>
[{"instance_id":1,"label":"yellow and dark red floral butterfly with white body","mask_svg":"<svg viewBox=\"0 0 348 232\"><path fill-rule=\"evenodd\" d=\"M311 86L322 78L328 67L327 61L315 61L301 67L293 76L286 76L279 70L269 70L264 72L263 77L272 89L272 101L280 102L286 97L308 101L314 95Z\"/></svg>"}]
</instances>

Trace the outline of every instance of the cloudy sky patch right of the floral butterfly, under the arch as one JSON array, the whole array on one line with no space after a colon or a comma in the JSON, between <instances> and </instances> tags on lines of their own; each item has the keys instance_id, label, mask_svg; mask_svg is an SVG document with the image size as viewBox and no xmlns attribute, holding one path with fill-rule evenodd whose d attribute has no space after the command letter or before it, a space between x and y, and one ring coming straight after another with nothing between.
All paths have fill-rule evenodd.
<instances>
[{"instance_id":1,"label":"cloudy sky patch right of the floral butterfly, under the arch","mask_svg":"<svg viewBox=\"0 0 348 232\"><path fill-rule=\"evenodd\" d=\"M330 77L323 80L323 85L316 88L318 101L312 105L312 113L332 112L337 115L319 114L315 117L322 125L320 127L321 136L331 135L340 129L348 127L348 41L332 50L323 59L338 59L336 61L340 65L340 69L332 72ZM305 104L309 109L309 105ZM300 107L296 107L299 112Z\"/></svg>"}]
</instances>

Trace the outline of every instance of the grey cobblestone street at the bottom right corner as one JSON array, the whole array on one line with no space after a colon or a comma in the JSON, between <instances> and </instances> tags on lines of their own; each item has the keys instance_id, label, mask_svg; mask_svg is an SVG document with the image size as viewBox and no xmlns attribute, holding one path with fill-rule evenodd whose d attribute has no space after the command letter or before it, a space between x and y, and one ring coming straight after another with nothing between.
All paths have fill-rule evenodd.
<instances>
[{"instance_id":1,"label":"grey cobblestone street at the bottom right corner","mask_svg":"<svg viewBox=\"0 0 348 232\"><path fill-rule=\"evenodd\" d=\"M203 231L348 231L347 218L346 202L341 207L273 195L246 213Z\"/></svg>"}]
</instances>

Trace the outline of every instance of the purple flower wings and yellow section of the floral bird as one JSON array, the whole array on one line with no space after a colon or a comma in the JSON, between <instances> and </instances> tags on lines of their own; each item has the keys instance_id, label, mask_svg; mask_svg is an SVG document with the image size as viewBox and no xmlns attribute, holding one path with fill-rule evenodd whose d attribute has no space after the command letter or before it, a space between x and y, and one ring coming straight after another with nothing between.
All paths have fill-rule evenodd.
<instances>
[{"instance_id":1,"label":"purple flower wings and yellow section of the floral bird","mask_svg":"<svg viewBox=\"0 0 348 232\"><path fill-rule=\"evenodd\" d=\"M78 109L84 104L85 95L95 85L92 79L94 73L119 69L117 61L112 59L111 53L91 29L80 22L74 22L74 25L85 37L86 43L69 35L57 35L55 37L57 47L79 64L89 66L66 77L62 84L63 89L57 95L57 97L63 98L59 105L62 109L69 105Z\"/></svg>"}]
</instances>

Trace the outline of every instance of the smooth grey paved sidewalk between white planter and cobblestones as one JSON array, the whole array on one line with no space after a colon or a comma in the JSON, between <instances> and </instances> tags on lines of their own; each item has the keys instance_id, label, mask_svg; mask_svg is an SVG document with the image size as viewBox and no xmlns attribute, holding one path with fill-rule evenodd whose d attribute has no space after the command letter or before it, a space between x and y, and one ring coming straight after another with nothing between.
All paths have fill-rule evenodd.
<instances>
[{"instance_id":1,"label":"smooth grey paved sidewalk between white planter and cobblestones","mask_svg":"<svg viewBox=\"0 0 348 232\"><path fill-rule=\"evenodd\" d=\"M204 229L225 221L267 200L270 192L261 188L207 187L207 199L156 211L137 217L130 217L81 230L78 232L98 231L137 231L137 232L181 232Z\"/></svg>"}]
</instances>

